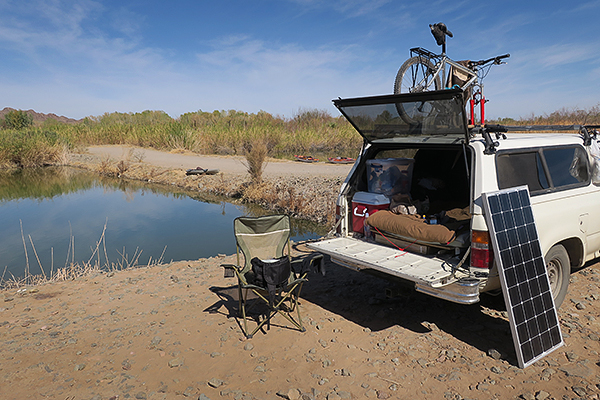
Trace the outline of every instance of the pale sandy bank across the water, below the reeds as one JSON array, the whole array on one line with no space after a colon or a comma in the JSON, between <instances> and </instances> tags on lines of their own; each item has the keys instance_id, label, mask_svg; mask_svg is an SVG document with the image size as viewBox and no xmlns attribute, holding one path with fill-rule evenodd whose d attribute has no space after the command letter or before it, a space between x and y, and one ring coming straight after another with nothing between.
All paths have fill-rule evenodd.
<instances>
[{"instance_id":1,"label":"pale sandy bank across the water, below the reeds","mask_svg":"<svg viewBox=\"0 0 600 400\"><path fill-rule=\"evenodd\" d=\"M307 164L269 159L260 185L251 185L240 156L167 153L130 146L91 146L71 153L68 165L125 179L153 182L258 204L269 210L333 225L340 186L352 165ZM186 175L190 168L216 168L216 175Z\"/></svg>"}]
</instances>

